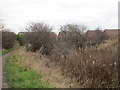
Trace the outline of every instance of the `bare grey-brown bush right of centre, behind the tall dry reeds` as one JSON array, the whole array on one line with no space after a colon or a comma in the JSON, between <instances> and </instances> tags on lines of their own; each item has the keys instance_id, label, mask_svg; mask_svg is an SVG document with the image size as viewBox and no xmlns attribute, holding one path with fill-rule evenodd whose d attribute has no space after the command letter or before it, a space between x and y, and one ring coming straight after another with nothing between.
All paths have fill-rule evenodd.
<instances>
[{"instance_id":1,"label":"bare grey-brown bush right of centre, behind the tall dry reeds","mask_svg":"<svg viewBox=\"0 0 120 90\"><path fill-rule=\"evenodd\" d=\"M56 45L54 57L64 57L66 59L69 57L69 53L72 50L79 51L83 50L85 47L85 37L83 35L83 31L85 27L81 27L81 25L76 24L67 24L61 26L60 33L58 39L58 43Z\"/></svg>"}]
</instances>

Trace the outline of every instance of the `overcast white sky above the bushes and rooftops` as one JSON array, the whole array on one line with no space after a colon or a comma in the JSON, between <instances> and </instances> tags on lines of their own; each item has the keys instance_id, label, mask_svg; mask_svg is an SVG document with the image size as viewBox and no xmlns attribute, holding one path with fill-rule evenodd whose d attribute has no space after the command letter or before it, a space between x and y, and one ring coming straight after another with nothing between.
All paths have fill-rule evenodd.
<instances>
[{"instance_id":1,"label":"overcast white sky above the bushes and rooftops","mask_svg":"<svg viewBox=\"0 0 120 90\"><path fill-rule=\"evenodd\" d=\"M0 0L0 18L14 32L29 22L45 22L58 32L66 23L85 24L88 29L118 28L119 0Z\"/></svg>"}]
</instances>

